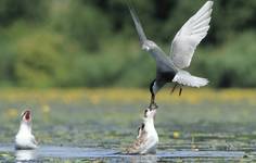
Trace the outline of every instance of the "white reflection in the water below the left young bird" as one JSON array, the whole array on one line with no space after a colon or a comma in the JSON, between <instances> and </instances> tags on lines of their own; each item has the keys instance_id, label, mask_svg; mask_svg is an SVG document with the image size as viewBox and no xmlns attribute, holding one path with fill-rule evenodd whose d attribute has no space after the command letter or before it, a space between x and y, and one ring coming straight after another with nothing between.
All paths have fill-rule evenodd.
<instances>
[{"instance_id":1,"label":"white reflection in the water below the left young bird","mask_svg":"<svg viewBox=\"0 0 256 163\"><path fill-rule=\"evenodd\" d=\"M37 159L37 152L36 150L16 150L15 156L16 163L31 161Z\"/></svg>"}]
</instances>

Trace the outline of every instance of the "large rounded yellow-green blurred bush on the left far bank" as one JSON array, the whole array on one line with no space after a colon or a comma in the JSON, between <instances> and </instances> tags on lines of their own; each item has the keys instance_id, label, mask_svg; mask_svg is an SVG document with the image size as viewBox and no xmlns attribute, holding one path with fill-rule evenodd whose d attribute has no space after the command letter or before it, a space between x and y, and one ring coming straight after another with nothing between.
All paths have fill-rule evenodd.
<instances>
[{"instance_id":1,"label":"large rounded yellow-green blurred bush on the left far bank","mask_svg":"<svg viewBox=\"0 0 256 163\"><path fill-rule=\"evenodd\" d=\"M23 22L5 30L7 39L15 39L1 57L9 61L1 71L17 86L47 87L62 85L68 76L72 60L66 55L72 47L63 36L38 28L27 28ZM13 37L15 36L15 37ZM2 61L2 60L1 60ZM4 78L4 77L3 77Z\"/></svg>"}]
</instances>

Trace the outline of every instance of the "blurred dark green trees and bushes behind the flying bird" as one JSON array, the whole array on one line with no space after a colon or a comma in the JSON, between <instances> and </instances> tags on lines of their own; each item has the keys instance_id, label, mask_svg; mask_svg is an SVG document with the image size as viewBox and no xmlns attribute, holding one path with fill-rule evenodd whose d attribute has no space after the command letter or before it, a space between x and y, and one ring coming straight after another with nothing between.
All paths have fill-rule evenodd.
<instances>
[{"instance_id":1,"label":"blurred dark green trees and bushes behind the flying bird","mask_svg":"<svg viewBox=\"0 0 256 163\"><path fill-rule=\"evenodd\" d=\"M148 37L167 53L205 0L138 0ZM216 0L190 71L209 87L256 86L256 1ZM146 75L145 75L146 74ZM148 87L154 60L140 49L123 0L1 0L1 87Z\"/></svg>"}]
</instances>

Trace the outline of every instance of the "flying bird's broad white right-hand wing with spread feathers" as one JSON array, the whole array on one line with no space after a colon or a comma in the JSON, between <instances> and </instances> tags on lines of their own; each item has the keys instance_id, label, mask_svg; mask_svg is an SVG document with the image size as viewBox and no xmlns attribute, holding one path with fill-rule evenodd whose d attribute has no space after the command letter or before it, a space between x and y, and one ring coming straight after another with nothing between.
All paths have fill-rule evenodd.
<instances>
[{"instance_id":1,"label":"flying bird's broad white right-hand wing with spread feathers","mask_svg":"<svg viewBox=\"0 0 256 163\"><path fill-rule=\"evenodd\" d=\"M196 46L207 35L213 4L213 1L207 1L176 34L170 48L170 59L179 68L190 65Z\"/></svg>"}]
</instances>

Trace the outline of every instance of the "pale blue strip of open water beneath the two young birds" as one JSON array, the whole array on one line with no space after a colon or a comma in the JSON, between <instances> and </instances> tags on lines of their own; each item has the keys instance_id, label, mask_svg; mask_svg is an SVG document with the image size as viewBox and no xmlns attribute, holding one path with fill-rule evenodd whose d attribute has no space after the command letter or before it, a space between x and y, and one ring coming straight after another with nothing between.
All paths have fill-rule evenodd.
<instances>
[{"instance_id":1,"label":"pale blue strip of open water beneath the two young birds","mask_svg":"<svg viewBox=\"0 0 256 163\"><path fill-rule=\"evenodd\" d=\"M53 159L107 159L108 161L143 161L156 162L162 159L241 159L245 155L242 151L158 151L155 155L127 155L117 154L117 151L98 148L76 148L41 146L36 150L15 151L12 146L1 146L0 152L9 152L15 155L16 160L44 160ZM1 158L0 158L1 160ZM202 161L202 160L201 160Z\"/></svg>"}]
</instances>

